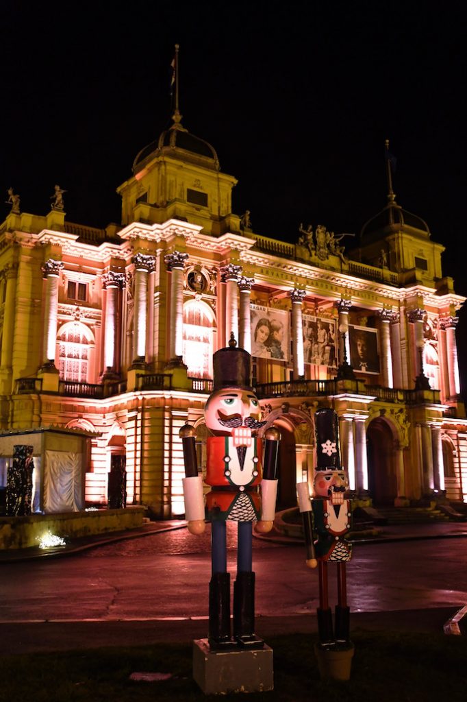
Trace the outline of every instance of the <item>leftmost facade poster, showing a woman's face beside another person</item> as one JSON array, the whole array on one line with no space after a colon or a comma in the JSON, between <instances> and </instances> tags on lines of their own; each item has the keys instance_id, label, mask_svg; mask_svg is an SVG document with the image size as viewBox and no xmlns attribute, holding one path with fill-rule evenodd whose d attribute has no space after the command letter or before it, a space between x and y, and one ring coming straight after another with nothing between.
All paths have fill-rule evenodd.
<instances>
[{"instance_id":1,"label":"leftmost facade poster, showing a woman's face beside another person","mask_svg":"<svg viewBox=\"0 0 467 702\"><path fill-rule=\"evenodd\" d=\"M290 333L289 313L273 307L250 305L251 355L288 361Z\"/></svg>"}]
</instances>

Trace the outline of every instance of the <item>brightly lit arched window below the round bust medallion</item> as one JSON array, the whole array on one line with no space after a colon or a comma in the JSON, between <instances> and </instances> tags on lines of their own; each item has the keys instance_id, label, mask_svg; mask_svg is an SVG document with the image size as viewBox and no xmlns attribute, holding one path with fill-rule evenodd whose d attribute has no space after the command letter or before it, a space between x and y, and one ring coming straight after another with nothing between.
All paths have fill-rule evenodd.
<instances>
[{"instance_id":1,"label":"brightly lit arched window below the round bust medallion","mask_svg":"<svg viewBox=\"0 0 467 702\"><path fill-rule=\"evenodd\" d=\"M201 300L189 300L183 308L183 362L189 378L212 380L214 314Z\"/></svg>"}]
</instances>

